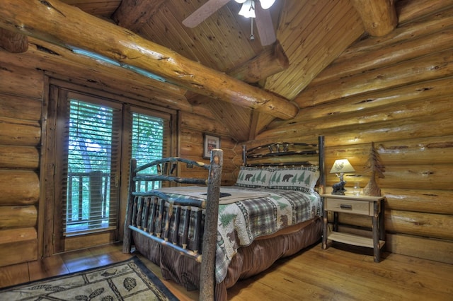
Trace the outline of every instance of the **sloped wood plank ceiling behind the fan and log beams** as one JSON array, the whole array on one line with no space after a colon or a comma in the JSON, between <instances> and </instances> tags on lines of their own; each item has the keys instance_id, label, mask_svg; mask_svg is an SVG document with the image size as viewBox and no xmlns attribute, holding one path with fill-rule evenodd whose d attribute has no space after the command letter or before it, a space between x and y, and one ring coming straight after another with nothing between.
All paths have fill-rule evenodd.
<instances>
[{"instance_id":1,"label":"sloped wood plank ceiling behind the fan and log beams","mask_svg":"<svg viewBox=\"0 0 453 301\"><path fill-rule=\"evenodd\" d=\"M280 54L277 64L256 59L267 58L273 52L270 47L276 45L261 46L256 28L253 29L256 39L249 39L251 20L239 16L241 4L233 0L195 28L186 28L182 20L206 0L62 0L215 71L239 78L237 72L241 71L237 70L246 66L258 74L253 83L248 83L293 105L293 100L317 74L364 35L364 24L354 6L355 1L276 0L270 8L276 45L281 46L289 63L280 64ZM389 0L377 2L383 1L393 3ZM256 61L252 64L253 59ZM174 93L175 88L169 90ZM214 100L189 90L185 98L192 106L210 110L239 142L253 138L275 119L272 114Z\"/></svg>"}]
</instances>

